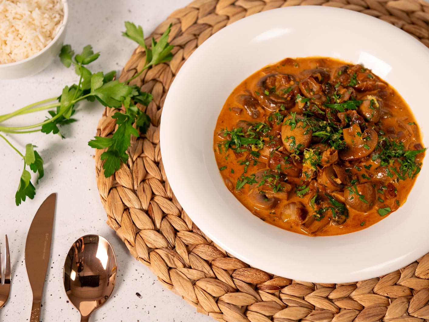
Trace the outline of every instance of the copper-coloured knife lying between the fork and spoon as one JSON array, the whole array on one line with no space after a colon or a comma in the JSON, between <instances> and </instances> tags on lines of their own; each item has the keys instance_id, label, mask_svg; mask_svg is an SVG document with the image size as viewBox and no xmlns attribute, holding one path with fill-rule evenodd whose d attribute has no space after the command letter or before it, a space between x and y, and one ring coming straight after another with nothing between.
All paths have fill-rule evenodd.
<instances>
[{"instance_id":1,"label":"copper-coloured knife lying between the fork and spoon","mask_svg":"<svg viewBox=\"0 0 429 322\"><path fill-rule=\"evenodd\" d=\"M43 285L51 250L56 199L57 194L52 193L42 203L30 225L25 243L25 267L33 291L30 322L39 322Z\"/></svg>"}]
</instances>

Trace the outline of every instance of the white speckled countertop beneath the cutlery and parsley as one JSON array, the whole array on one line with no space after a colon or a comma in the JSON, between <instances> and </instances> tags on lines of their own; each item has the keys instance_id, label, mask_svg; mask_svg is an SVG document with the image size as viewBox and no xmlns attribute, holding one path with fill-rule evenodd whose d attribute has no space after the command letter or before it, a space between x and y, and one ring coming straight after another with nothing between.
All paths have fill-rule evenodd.
<instances>
[{"instance_id":1,"label":"white speckled countertop beneath the cutlery and parsley","mask_svg":"<svg viewBox=\"0 0 429 322\"><path fill-rule=\"evenodd\" d=\"M121 36L124 21L141 24L148 35L175 9L190 0L69 0L69 23L66 43L76 51L91 44L101 51L90 65L92 71L121 71L136 44ZM19 80L0 81L0 114L42 99L59 95L65 85L78 79L73 69L55 60L43 72ZM63 264L73 242L89 233L106 237L118 260L118 276L112 298L97 310L90 321L213 321L196 313L196 309L179 296L164 289L145 265L130 255L122 241L106 222L96 182L94 150L87 142L94 134L103 112L99 103L79 105L79 120L63 129L66 139L36 133L8 136L21 151L33 143L45 160L45 177L37 187L36 197L15 206L15 191L22 172L21 158L3 140L0 141L0 242L9 237L12 265L12 288L9 301L0 309L0 321L28 321L32 295L24 264L24 248L31 220L43 200L57 192L51 262L42 298L41 320L79 321L79 313L68 303L63 287ZM26 115L20 124L37 123L45 112ZM37 118L36 118L37 117ZM10 123L13 124L13 123ZM3 256L3 253L2 253ZM137 296L137 293L141 297Z\"/></svg>"}]
</instances>

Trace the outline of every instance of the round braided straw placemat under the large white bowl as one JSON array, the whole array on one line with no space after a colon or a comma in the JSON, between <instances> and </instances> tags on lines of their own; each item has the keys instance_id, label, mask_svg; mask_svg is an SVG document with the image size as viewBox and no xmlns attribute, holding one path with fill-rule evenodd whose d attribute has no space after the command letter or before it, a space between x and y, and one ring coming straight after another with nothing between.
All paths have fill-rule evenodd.
<instances>
[{"instance_id":1,"label":"round braided straw placemat under the large white bowl","mask_svg":"<svg viewBox=\"0 0 429 322\"><path fill-rule=\"evenodd\" d=\"M127 164L110 178L103 175L100 155L104 150L95 153L107 224L163 286L218 321L429 321L429 253L399 271L357 283L317 284L273 276L214 244L187 216L169 186L160 154L159 125L166 93L184 61L226 25L257 12L295 5L363 12L402 28L429 47L429 5L418 1L196 0L176 10L152 34L157 39L172 24L173 59L131 82L154 96L147 108L139 106L151 117L148 132L132 137ZM145 52L138 47L120 81L135 75L144 62ZM97 135L112 135L115 120L111 115L116 111L106 108Z\"/></svg>"}]
</instances>

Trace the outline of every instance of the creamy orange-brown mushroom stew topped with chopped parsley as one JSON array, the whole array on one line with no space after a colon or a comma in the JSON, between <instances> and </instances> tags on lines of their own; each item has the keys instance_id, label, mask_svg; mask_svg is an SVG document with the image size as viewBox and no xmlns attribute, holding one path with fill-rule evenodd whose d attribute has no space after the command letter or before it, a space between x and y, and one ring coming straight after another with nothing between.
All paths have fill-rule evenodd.
<instances>
[{"instance_id":1,"label":"creamy orange-brown mushroom stew topped with chopped parsley","mask_svg":"<svg viewBox=\"0 0 429 322\"><path fill-rule=\"evenodd\" d=\"M393 87L361 65L310 57L284 59L236 87L214 150L226 186L254 215L327 236L403 205L426 149Z\"/></svg>"}]
</instances>

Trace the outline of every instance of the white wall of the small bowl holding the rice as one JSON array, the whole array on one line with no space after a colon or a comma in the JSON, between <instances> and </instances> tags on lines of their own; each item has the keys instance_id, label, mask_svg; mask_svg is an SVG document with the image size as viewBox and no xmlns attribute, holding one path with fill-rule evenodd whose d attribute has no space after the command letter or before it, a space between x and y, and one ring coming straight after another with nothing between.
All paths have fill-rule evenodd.
<instances>
[{"instance_id":1,"label":"white wall of the small bowl holding the rice","mask_svg":"<svg viewBox=\"0 0 429 322\"><path fill-rule=\"evenodd\" d=\"M66 0L63 0L63 11L63 22L54 39L33 56L14 63L0 64L0 79L15 79L34 75L45 69L58 56L64 43L64 37L66 36L67 19L69 16L69 6Z\"/></svg>"}]
</instances>

